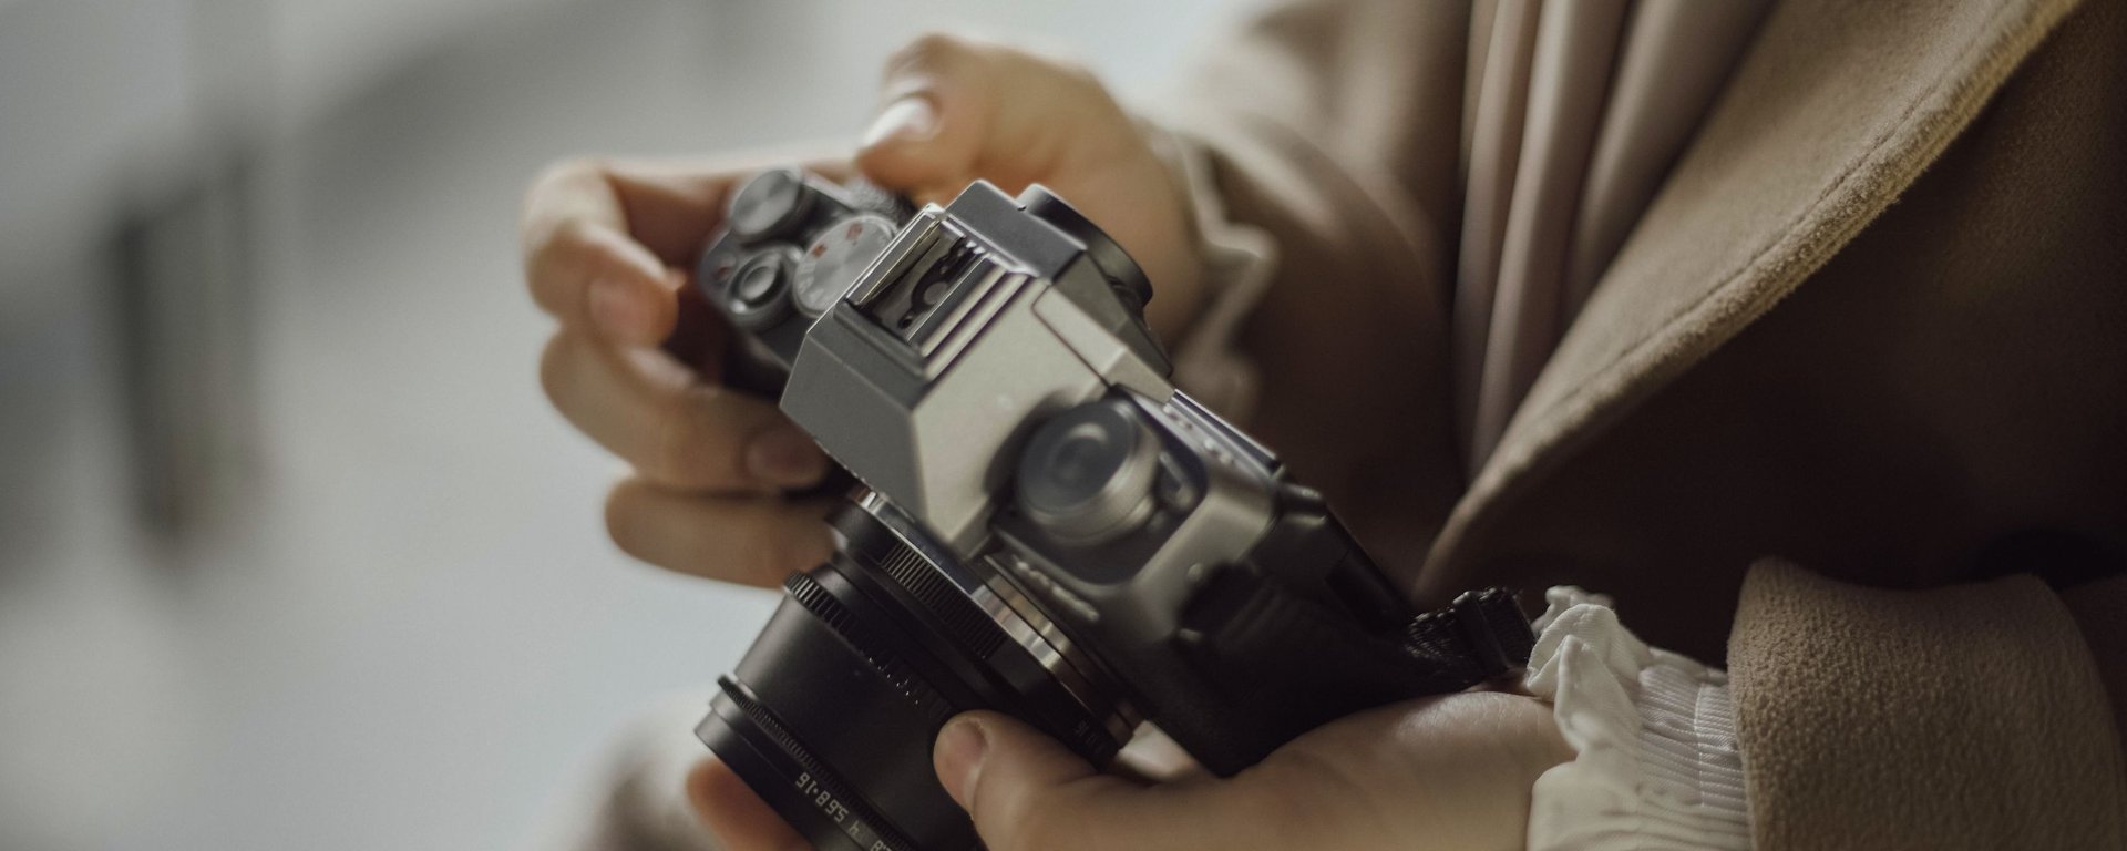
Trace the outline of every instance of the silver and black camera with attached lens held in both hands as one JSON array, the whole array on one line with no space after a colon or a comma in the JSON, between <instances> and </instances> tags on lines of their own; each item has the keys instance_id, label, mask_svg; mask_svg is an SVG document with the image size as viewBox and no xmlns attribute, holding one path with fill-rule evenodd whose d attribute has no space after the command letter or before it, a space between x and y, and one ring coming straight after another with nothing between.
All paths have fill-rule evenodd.
<instances>
[{"instance_id":1,"label":"silver and black camera with attached lens held in both hands","mask_svg":"<svg viewBox=\"0 0 2127 851\"><path fill-rule=\"evenodd\" d=\"M834 555L789 577L698 728L815 847L978 849L929 762L961 711L1093 764L1149 721L1232 774L1527 660L1510 591L1412 611L1319 494L1178 391L1144 272L1061 198L978 181L895 219L870 191L764 172L698 274L734 368L855 479ZM895 228L847 226L866 215Z\"/></svg>"}]
</instances>

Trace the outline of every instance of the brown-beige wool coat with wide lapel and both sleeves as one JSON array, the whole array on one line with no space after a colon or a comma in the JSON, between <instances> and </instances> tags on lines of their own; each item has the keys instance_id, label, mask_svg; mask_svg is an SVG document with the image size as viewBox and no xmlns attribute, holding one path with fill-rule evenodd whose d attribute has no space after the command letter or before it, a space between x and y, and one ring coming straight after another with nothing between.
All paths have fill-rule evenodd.
<instances>
[{"instance_id":1,"label":"brown-beige wool coat with wide lapel and both sleeves","mask_svg":"<svg viewBox=\"0 0 2127 851\"><path fill-rule=\"evenodd\" d=\"M1155 115L1280 247L1253 430L1421 600L1578 583L1725 660L1759 847L2123 847L2127 9L2082 6L1776 2L1474 481L1470 11L1278 6Z\"/></svg>"}]
</instances>

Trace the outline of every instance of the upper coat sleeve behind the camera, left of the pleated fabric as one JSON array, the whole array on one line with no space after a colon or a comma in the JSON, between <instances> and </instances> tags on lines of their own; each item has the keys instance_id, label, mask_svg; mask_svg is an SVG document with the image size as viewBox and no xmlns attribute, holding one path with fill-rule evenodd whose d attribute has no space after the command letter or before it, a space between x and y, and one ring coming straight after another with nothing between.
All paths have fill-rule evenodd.
<instances>
[{"instance_id":1,"label":"upper coat sleeve behind the camera, left of the pleated fabric","mask_svg":"<svg viewBox=\"0 0 2127 851\"><path fill-rule=\"evenodd\" d=\"M1444 400L1468 45L1468 4L1287 2L1140 104L1204 164L1200 232L1210 215L1270 236L1236 336L1251 432L1334 504L1378 513L1346 517L1370 540L1429 540L1461 489Z\"/></svg>"}]
</instances>

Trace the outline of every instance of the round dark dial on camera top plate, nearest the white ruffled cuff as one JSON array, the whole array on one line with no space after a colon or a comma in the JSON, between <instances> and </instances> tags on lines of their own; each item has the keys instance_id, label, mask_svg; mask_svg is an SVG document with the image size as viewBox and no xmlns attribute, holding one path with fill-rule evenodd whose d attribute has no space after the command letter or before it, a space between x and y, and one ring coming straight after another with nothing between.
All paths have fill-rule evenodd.
<instances>
[{"instance_id":1,"label":"round dark dial on camera top plate, nearest the white ruffled cuff","mask_svg":"<svg viewBox=\"0 0 2127 851\"><path fill-rule=\"evenodd\" d=\"M1157 504L1159 436L1127 402L1049 417L1019 453L1019 508L1049 536L1098 545L1136 530Z\"/></svg>"}]
</instances>

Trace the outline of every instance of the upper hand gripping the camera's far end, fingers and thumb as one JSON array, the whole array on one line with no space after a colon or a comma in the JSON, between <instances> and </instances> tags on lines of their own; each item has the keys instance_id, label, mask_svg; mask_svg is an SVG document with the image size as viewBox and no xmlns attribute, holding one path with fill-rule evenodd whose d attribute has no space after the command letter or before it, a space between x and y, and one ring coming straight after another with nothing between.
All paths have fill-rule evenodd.
<instances>
[{"instance_id":1,"label":"upper hand gripping the camera's far end, fingers and thumb","mask_svg":"<svg viewBox=\"0 0 2127 851\"><path fill-rule=\"evenodd\" d=\"M1193 315L1200 270L1180 187L1091 74L925 36L889 62L883 100L855 170L919 202L951 200L974 179L1010 194L1044 183L1144 268L1155 332ZM532 298L559 321L540 362L547 396L634 468L606 500L613 540L651 564L764 587L830 555L825 502L783 496L819 481L827 457L772 400L727 389L717 364L681 364L661 345L679 328L674 349L721 351L727 330L683 323L679 294L727 194L789 162L564 162L532 185L521 226ZM808 168L851 174L840 162Z\"/></svg>"}]
</instances>

